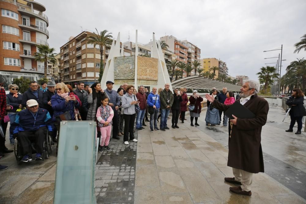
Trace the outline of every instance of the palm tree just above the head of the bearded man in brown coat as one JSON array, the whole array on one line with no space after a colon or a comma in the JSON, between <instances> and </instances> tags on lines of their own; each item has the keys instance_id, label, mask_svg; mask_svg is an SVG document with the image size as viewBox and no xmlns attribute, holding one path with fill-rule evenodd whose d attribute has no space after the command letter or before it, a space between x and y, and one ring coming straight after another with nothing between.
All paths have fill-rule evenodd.
<instances>
[{"instance_id":1,"label":"palm tree just above the head of the bearded man in brown coat","mask_svg":"<svg viewBox=\"0 0 306 204\"><path fill-rule=\"evenodd\" d=\"M267 88L270 84L273 84L273 79L278 78L278 74L275 73L275 67L267 66L260 68L260 72L256 73L259 78L259 82L264 84L263 92L267 93Z\"/></svg>"}]
</instances>

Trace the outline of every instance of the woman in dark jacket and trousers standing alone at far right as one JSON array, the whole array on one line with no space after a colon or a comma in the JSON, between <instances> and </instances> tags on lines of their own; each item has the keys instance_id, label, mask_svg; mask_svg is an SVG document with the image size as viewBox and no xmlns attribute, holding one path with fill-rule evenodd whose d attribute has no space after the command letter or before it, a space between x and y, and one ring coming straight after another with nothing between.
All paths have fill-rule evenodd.
<instances>
[{"instance_id":1,"label":"woman in dark jacket and trousers standing alone at far right","mask_svg":"<svg viewBox=\"0 0 306 204\"><path fill-rule=\"evenodd\" d=\"M302 118L306 115L306 110L304 107L304 93L299 88L292 90L292 96L289 97L286 104L290 106L290 126L286 132L293 132L293 126L297 121L297 132L295 134L301 134L302 129Z\"/></svg>"}]
</instances>

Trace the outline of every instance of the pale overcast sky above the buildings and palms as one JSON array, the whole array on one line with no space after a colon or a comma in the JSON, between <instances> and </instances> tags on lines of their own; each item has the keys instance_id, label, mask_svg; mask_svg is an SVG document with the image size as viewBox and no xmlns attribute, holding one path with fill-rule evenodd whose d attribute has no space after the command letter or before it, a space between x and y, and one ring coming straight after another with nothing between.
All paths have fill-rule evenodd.
<instances>
[{"instance_id":1,"label":"pale overcast sky above the buildings and palms","mask_svg":"<svg viewBox=\"0 0 306 204\"><path fill-rule=\"evenodd\" d=\"M231 76L246 75L257 79L256 72L265 63L276 62L265 57L278 56L283 44L283 69L306 52L293 54L294 43L306 34L305 0L36 0L46 7L49 18L48 43L59 52L70 36L83 29L108 30L121 42L148 43L173 35L197 45L201 59L215 57L227 63ZM234 3L233 3L234 2ZM81 28L82 27L82 28ZM275 66L274 64L271 64Z\"/></svg>"}]
</instances>

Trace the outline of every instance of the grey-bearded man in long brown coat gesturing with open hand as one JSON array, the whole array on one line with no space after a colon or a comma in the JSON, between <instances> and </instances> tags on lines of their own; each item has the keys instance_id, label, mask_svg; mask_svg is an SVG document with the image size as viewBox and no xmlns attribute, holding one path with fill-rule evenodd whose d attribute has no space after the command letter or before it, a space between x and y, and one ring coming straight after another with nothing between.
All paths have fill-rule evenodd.
<instances>
[{"instance_id":1,"label":"grey-bearded man in long brown coat gesturing with open hand","mask_svg":"<svg viewBox=\"0 0 306 204\"><path fill-rule=\"evenodd\" d=\"M251 184L253 173L264 172L263 151L261 148L261 129L266 124L269 111L268 102L257 96L259 83L252 80L244 82L240 89L240 103L256 115L255 118L241 119L233 115L230 120L232 127L229 136L229 155L227 165L233 168L233 178L224 178L226 182L240 184L230 187L230 191L242 195L252 195ZM216 101L211 95L206 94L208 101L222 111L230 105ZM239 101L239 100L238 100Z\"/></svg>"}]
</instances>

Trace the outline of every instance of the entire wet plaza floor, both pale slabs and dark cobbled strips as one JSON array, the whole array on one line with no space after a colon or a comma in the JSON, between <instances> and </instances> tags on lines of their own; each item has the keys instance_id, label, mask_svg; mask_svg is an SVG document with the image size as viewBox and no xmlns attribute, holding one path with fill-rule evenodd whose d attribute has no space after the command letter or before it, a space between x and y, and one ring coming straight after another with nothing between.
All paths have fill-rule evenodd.
<instances>
[{"instance_id":1,"label":"entire wet plaza floor, both pale slabs and dark cobbled strips","mask_svg":"<svg viewBox=\"0 0 306 204\"><path fill-rule=\"evenodd\" d=\"M147 128L129 146L112 139L113 150L98 154L97 203L306 203L306 133L285 132L290 119L281 122L283 110L270 106L262 131L265 173L254 174L251 197L232 194L233 185L224 182L233 176L227 166L228 129L206 126L205 112L200 127L191 127L187 115L179 129ZM10 153L0 164L9 166L0 172L0 203L53 203L54 154L17 165Z\"/></svg>"}]
</instances>

